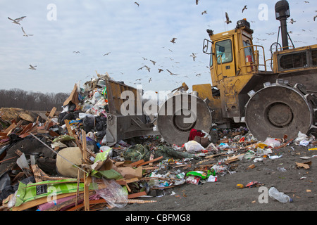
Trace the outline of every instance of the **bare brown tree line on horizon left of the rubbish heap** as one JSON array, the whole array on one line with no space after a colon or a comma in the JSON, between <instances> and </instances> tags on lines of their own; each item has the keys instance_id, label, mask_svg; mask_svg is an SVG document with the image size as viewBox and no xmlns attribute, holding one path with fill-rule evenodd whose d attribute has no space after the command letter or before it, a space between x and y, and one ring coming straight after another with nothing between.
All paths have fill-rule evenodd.
<instances>
[{"instance_id":1,"label":"bare brown tree line on horizon left of the rubbish heap","mask_svg":"<svg viewBox=\"0 0 317 225\"><path fill-rule=\"evenodd\" d=\"M50 111L61 106L70 93L46 93L21 89L0 89L0 108L23 108L25 110Z\"/></svg>"}]
</instances>

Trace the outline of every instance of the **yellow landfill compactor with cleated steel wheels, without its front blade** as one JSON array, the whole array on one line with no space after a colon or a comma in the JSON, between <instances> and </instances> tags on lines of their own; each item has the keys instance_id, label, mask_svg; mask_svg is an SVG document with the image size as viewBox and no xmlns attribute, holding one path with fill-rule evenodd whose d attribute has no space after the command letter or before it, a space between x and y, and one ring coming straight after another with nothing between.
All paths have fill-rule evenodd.
<instances>
[{"instance_id":1,"label":"yellow landfill compactor with cleated steel wheels, without its front blade","mask_svg":"<svg viewBox=\"0 0 317 225\"><path fill-rule=\"evenodd\" d=\"M194 109L187 104L185 113L178 115L181 110L170 115L166 110L159 111L157 127L166 141L182 144L193 128L209 132L213 124L231 127L241 122L258 140L285 135L294 139L299 131L314 131L317 45L289 45L287 1L275 4L275 15L280 20L278 36L281 34L282 45L271 45L271 58L266 58L263 46L254 44L254 31L246 19L237 21L235 29L227 32L213 34L213 30L207 30L210 40L204 40L203 51L211 56L212 86L192 86L197 92L197 99L191 98L197 103ZM177 105L179 99L173 96L168 101ZM167 103L165 106L168 108ZM192 116L188 110L192 110L196 121L184 122L185 117Z\"/></svg>"}]
</instances>

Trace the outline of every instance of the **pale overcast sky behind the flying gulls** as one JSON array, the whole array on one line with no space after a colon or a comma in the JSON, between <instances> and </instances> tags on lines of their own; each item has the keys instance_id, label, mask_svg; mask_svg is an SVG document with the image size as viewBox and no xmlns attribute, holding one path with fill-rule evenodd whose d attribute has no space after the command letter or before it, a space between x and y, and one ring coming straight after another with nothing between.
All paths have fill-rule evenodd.
<instances>
[{"instance_id":1,"label":"pale overcast sky behind the flying gulls","mask_svg":"<svg viewBox=\"0 0 317 225\"><path fill-rule=\"evenodd\" d=\"M263 45L270 58L268 49L280 25L276 2L137 0L137 6L135 0L0 0L0 89L70 92L74 84L96 77L96 71L130 86L141 82L145 91L168 91L182 82L192 89L193 84L211 83L209 56L202 52L209 38L206 29L225 32L247 18L255 44ZM287 23L295 47L317 44L317 1L288 2L296 21ZM207 13L201 15L203 11ZM21 16L20 25L8 19ZM24 37L21 27L33 36ZM195 61L192 53L197 53ZM37 70L30 70L30 64ZM144 65L150 72L138 70Z\"/></svg>"}]
</instances>

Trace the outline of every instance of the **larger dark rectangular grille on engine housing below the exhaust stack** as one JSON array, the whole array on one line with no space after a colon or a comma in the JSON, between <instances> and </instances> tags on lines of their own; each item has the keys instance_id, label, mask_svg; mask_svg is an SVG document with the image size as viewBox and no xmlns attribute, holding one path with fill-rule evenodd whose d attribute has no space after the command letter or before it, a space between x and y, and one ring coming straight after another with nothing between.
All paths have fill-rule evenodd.
<instances>
[{"instance_id":1,"label":"larger dark rectangular grille on engine housing below the exhaust stack","mask_svg":"<svg viewBox=\"0 0 317 225\"><path fill-rule=\"evenodd\" d=\"M280 67L283 70L290 70L295 68L304 68L307 66L306 51L299 53L287 54L280 57Z\"/></svg>"}]
</instances>

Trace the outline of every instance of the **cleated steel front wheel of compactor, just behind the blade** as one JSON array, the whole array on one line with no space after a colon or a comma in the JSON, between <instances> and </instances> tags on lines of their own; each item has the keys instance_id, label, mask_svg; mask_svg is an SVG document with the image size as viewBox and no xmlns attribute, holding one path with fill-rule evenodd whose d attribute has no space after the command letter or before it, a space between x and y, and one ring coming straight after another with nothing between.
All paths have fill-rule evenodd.
<instances>
[{"instance_id":1,"label":"cleated steel front wheel of compactor, just behind the blade","mask_svg":"<svg viewBox=\"0 0 317 225\"><path fill-rule=\"evenodd\" d=\"M208 133L211 125L211 111L207 104L192 94L168 98L157 116L157 127L163 139L178 146L188 141L191 129Z\"/></svg>"}]
</instances>

